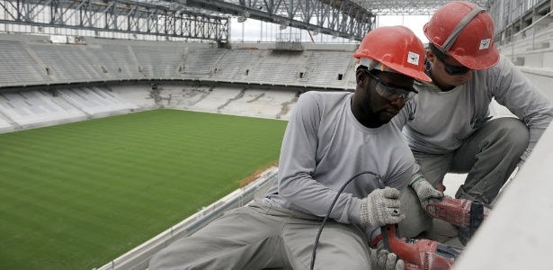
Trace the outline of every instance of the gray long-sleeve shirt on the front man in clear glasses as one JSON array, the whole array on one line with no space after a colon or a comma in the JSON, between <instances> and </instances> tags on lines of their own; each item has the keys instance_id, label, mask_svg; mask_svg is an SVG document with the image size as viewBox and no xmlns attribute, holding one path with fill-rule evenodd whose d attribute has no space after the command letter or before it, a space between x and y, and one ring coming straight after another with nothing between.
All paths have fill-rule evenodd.
<instances>
[{"instance_id":1,"label":"gray long-sleeve shirt on the front man in clear glasses","mask_svg":"<svg viewBox=\"0 0 553 270\"><path fill-rule=\"evenodd\" d=\"M353 175L372 171L403 191L418 166L397 126L369 129L355 119L351 93L308 92L294 106L281 146L279 175L263 203L325 216ZM352 180L330 214L359 223L361 199L379 188L374 175ZM370 232L365 229L370 236Z\"/></svg>"}]
</instances>

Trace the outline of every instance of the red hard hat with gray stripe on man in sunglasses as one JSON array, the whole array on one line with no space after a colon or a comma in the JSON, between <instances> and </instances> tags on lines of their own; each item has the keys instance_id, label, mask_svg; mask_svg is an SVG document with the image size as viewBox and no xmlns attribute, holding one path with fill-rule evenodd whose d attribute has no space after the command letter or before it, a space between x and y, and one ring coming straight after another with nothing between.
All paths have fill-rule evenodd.
<instances>
[{"instance_id":1,"label":"red hard hat with gray stripe on man in sunglasses","mask_svg":"<svg viewBox=\"0 0 553 270\"><path fill-rule=\"evenodd\" d=\"M499 61L494 20L477 4L461 1L444 4L424 25L424 35L465 67L485 69Z\"/></svg>"}]
</instances>

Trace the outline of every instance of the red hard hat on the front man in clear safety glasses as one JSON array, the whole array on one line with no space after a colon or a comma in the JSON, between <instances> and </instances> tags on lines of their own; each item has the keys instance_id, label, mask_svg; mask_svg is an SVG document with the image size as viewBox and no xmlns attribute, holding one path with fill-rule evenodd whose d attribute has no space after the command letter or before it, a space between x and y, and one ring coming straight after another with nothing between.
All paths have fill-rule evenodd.
<instances>
[{"instance_id":1,"label":"red hard hat on the front man in clear safety glasses","mask_svg":"<svg viewBox=\"0 0 553 270\"><path fill-rule=\"evenodd\" d=\"M370 58L398 73L430 82L424 74L424 46L405 26L382 26L365 35L354 58Z\"/></svg>"}]
</instances>

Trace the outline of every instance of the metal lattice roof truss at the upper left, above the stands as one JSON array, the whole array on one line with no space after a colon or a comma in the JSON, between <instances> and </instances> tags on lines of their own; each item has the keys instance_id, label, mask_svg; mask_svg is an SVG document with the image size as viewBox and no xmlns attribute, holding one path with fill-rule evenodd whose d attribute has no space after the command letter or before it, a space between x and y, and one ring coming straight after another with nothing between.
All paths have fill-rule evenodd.
<instances>
[{"instance_id":1,"label":"metal lattice roof truss at the upper left, above the stands","mask_svg":"<svg viewBox=\"0 0 553 270\"><path fill-rule=\"evenodd\" d=\"M228 40L228 18L164 4L126 0L0 0L4 8L0 23Z\"/></svg>"}]
</instances>

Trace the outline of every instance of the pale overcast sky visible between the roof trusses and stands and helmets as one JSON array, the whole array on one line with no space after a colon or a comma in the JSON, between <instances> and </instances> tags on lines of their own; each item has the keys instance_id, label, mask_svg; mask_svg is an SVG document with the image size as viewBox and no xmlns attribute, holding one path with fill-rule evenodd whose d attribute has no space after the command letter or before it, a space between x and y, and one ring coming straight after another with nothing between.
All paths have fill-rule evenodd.
<instances>
[{"instance_id":1,"label":"pale overcast sky visible between the roof trusses and stands and helmets","mask_svg":"<svg viewBox=\"0 0 553 270\"><path fill-rule=\"evenodd\" d=\"M423 42L428 40L424 37L423 26L424 23L427 23L430 20L430 16L401 16L401 15L388 15L388 16L379 16L377 19L377 26L389 26L389 25L405 25L409 29L415 32L416 36L419 37ZM245 23L238 23L236 18L231 18L231 31L230 39L233 41L245 40L245 42L274 42L276 38L283 34L286 37L290 34L297 39L300 39L302 42L311 42L311 37L309 37L308 31L292 29L291 27L286 28L285 30L280 30L278 24L274 23L263 23L261 21L255 21L253 19L247 19ZM343 43L349 42L347 39L336 38L333 39L332 36L318 34L313 36L313 40L316 43L323 42L335 42Z\"/></svg>"}]
</instances>

